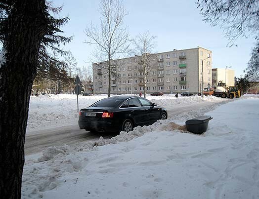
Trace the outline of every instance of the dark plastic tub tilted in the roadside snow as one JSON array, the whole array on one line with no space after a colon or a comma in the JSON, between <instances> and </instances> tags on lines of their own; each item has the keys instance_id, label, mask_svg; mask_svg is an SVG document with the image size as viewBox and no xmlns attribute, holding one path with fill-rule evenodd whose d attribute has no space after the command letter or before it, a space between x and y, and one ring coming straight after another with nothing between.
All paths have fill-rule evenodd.
<instances>
[{"instance_id":1,"label":"dark plastic tub tilted in the roadside snow","mask_svg":"<svg viewBox=\"0 0 259 199\"><path fill-rule=\"evenodd\" d=\"M194 119L185 121L188 131L195 134L202 134L207 131L209 121L213 119L211 116L200 116Z\"/></svg>"}]
</instances>

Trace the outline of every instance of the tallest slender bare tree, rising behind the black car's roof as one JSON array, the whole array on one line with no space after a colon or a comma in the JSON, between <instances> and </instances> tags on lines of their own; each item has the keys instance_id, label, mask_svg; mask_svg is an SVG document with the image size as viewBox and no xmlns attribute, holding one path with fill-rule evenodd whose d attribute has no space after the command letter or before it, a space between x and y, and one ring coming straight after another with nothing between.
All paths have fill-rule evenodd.
<instances>
[{"instance_id":1,"label":"tallest slender bare tree, rising behind the black car's roof","mask_svg":"<svg viewBox=\"0 0 259 199\"><path fill-rule=\"evenodd\" d=\"M108 72L108 97L110 97L112 60L129 48L129 32L123 26L127 12L122 0L101 0L99 13L100 26L91 23L86 28L85 34L89 39L86 43L97 44L94 51L95 59L107 62L102 64L102 67Z\"/></svg>"}]
</instances>

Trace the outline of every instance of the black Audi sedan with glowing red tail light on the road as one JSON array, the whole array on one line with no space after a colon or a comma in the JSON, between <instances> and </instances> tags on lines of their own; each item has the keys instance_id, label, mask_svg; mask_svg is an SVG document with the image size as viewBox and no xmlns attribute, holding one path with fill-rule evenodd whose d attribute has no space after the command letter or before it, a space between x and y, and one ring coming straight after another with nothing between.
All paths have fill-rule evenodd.
<instances>
[{"instance_id":1,"label":"black Audi sedan with glowing red tail light on the road","mask_svg":"<svg viewBox=\"0 0 259 199\"><path fill-rule=\"evenodd\" d=\"M79 112L79 127L91 132L131 131L167 119L167 110L143 97L116 96L99 100Z\"/></svg>"}]
</instances>

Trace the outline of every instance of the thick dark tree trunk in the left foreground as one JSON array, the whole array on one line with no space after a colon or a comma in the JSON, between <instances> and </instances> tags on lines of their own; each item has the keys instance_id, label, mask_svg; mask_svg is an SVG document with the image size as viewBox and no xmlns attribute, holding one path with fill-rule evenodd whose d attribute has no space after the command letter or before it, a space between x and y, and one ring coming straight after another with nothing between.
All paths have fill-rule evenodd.
<instances>
[{"instance_id":1,"label":"thick dark tree trunk in the left foreground","mask_svg":"<svg viewBox=\"0 0 259 199\"><path fill-rule=\"evenodd\" d=\"M21 198L24 140L40 43L48 20L45 0L14 0L0 63L0 198Z\"/></svg>"}]
</instances>

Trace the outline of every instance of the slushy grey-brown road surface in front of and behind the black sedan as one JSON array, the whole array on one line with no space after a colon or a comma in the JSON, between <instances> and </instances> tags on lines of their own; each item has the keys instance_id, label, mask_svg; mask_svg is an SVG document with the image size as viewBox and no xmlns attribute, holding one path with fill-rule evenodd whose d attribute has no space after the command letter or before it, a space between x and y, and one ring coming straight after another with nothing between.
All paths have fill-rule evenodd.
<instances>
[{"instance_id":1,"label":"slushy grey-brown road surface in front of and behind the black sedan","mask_svg":"<svg viewBox=\"0 0 259 199\"><path fill-rule=\"evenodd\" d=\"M188 113L201 107L211 106L215 102L203 102L191 105L177 107L175 105L166 107L168 118L181 113ZM62 127L54 127L44 130L30 131L25 137L25 155L37 154L51 146L73 145L76 146L81 142L95 141L102 136L104 139L109 139L116 134L98 133L93 134L79 129L77 124L67 125Z\"/></svg>"}]
</instances>

